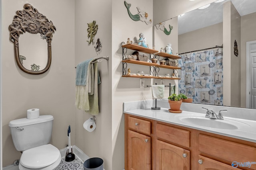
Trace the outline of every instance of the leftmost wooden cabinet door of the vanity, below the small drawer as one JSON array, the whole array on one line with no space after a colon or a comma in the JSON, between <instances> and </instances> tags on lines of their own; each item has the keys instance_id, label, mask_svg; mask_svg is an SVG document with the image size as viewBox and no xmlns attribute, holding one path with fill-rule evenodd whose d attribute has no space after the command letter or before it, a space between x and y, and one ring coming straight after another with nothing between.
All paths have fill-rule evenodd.
<instances>
[{"instance_id":1,"label":"leftmost wooden cabinet door of the vanity, below the small drawer","mask_svg":"<svg viewBox=\"0 0 256 170\"><path fill-rule=\"evenodd\" d=\"M128 170L151 170L151 139L128 130Z\"/></svg>"}]
</instances>

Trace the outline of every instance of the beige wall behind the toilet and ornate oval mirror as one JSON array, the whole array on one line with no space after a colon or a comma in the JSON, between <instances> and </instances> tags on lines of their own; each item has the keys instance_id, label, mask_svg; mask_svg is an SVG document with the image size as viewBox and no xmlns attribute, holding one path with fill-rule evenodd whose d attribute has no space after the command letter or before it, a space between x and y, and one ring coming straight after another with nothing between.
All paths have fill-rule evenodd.
<instances>
[{"instance_id":1,"label":"beige wall behind the toilet and ornate oval mirror","mask_svg":"<svg viewBox=\"0 0 256 170\"><path fill-rule=\"evenodd\" d=\"M14 61L14 46L9 40L8 26L12 23L15 12L22 10L25 3L37 8L57 29L52 39L51 67L40 75L27 74L18 68ZM26 117L27 109L39 108L40 115L54 116L50 143L58 149L63 149L68 143L69 124L75 136L74 1L62 0L60 6L60 1L57 0L4 0L2 6L2 161L3 166L6 166L21 155L14 148L8 123L13 119ZM26 34L28 33L20 36ZM75 144L74 138L71 143Z\"/></svg>"}]
</instances>

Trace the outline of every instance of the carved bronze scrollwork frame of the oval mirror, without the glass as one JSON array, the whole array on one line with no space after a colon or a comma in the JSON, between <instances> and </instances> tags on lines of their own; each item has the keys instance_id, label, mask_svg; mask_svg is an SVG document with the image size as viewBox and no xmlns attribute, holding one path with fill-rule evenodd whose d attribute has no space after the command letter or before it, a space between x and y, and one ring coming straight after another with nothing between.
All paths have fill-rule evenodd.
<instances>
[{"instance_id":1,"label":"carved bronze scrollwork frame of the oval mirror, without the glass","mask_svg":"<svg viewBox=\"0 0 256 170\"><path fill-rule=\"evenodd\" d=\"M52 61L52 36L56 27L52 21L49 21L46 16L40 14L36 8L30 4L25 4L23 10L16 11L12 23L9 25L10 40L14 43L14 57L19 68L28 74L42 74L46 72ZM19 52L19 37L23 33L37 34L40 33L42 39L46 39L48 46L48 61L43 70L32 71L26 69L22 65Z\"/></svg>"}]
</instances>

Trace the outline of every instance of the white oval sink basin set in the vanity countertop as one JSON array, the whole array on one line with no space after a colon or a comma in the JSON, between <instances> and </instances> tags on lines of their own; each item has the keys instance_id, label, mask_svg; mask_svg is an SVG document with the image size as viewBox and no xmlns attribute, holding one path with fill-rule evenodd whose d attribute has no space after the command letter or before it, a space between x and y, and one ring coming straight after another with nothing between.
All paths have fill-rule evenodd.
<instances>
[{"instance_id":1,"label":"white oval sink basin set in the vanity countertop","mask_svg":"<svg viewBox=\"0 0 256 170\"><path fill-rule=\"evenodd\" d=\"M225 119L210 119L204 115L176 115L176 117L187 124L198 125L202 127L216 128L216 129L238 129L241 126L247 125L240 121ZM248 126L248 125L247 125Z\"/></svg>"}]
</instances>

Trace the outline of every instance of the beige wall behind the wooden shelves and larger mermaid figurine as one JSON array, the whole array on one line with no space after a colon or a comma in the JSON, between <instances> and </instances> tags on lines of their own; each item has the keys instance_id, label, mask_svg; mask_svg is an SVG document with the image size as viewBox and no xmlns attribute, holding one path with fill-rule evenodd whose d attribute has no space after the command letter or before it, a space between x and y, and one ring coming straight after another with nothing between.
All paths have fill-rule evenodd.
<instances>
[{"instance_id":1,"label":"beige wall behind the wooden shelves and larger mermaid figurine","mask_svg":"<svg viewBox=\"0 0 256 170\"><path fill-rule=\"evenodd\" d=\"M136 7L148 13L148 18L153 19L152 0L129 0L130 11L137 14ZM118 7L118 8L117 8ZM145 78L145 88L140 89L139 78L124 78L122 76L122 47L129 37L132 41L144 33L147 44L152 48L152 23L146 25L142 21L133 21L129 16L124 1L112 0L112 170L124 168L124 115L122 114L123 102L147 100L152 98L150 79ZM127 55L132 54L128 50ZM132 73L144 71L149 74L149 67L129 64Z\"/></svg>"}]
</instances>

